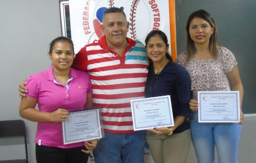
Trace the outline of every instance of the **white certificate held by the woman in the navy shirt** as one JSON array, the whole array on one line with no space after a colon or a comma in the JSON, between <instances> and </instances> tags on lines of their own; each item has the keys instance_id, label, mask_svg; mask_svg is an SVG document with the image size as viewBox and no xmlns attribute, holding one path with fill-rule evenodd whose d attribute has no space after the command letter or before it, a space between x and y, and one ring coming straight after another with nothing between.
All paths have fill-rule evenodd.
<instances>
[{"instance_id":1,"label":"white certificate held by the woman in the navy shirt","mask_svg":"<svg viewBox=\"0 0 256 163\"><path fill-rule=\"evenodd\" d=\"M174 126L170 96L131 100L134 131Z\"/></svg>"}]
</instances>

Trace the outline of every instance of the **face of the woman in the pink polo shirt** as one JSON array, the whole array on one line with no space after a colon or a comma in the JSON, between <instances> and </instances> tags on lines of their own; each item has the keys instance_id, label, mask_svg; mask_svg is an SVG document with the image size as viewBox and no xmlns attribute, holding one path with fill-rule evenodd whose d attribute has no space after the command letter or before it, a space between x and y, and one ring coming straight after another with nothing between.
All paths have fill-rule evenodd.
<instances>
[{"instance_id":1,"label":"face of the woman in the pink polo shirt","mask_svg":"<svg viewBox=\"0 0 256 163\"><path fill-rule=\"evenodd\" d=\"M70 69L74 59L73 46L67 41L56 42L52 48L52 53L49 53L49 58L52 59L54 69Z\"/></svg>"}]
</instances>

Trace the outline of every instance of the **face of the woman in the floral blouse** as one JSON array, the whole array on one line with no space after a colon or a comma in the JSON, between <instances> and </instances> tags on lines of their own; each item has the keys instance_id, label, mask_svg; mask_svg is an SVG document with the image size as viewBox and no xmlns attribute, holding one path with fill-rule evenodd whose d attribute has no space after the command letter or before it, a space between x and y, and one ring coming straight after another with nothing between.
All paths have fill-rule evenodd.
<instances>
[{"instance_id":1,"label":"face of the woman in the floral blouse","mask_svg":"<svg viewBox=\"0 0 256 163\"><path fill-rule=\"evenodd\" d=\"M189 25L189 34L195 45L205 44L208 46L212 33L213 28L207 21L199 17L192 19Z\"/></svg>"}]
</instances>

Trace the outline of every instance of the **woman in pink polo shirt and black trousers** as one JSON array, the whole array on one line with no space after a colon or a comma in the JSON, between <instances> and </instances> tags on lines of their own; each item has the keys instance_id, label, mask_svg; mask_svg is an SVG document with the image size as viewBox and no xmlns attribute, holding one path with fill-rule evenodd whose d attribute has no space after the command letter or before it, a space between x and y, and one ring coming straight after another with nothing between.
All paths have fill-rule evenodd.
<instances>
[{"instance_id":1,"label":"woman in pink polo shirt and black trousers","mask_svg":"<svg viewBox=\"0 0 256 163\"><path fill-rule=\"evenodd\" d=\"M64 145L61 122L66 121L70 111L93 107L89 74L71 68L74 46L67 37L52 40L49 58L52 65L29 77L29 92L20 101L20 116L38 122L37 163L87 163L98 140Z\"/></svg>"}]
</instances>

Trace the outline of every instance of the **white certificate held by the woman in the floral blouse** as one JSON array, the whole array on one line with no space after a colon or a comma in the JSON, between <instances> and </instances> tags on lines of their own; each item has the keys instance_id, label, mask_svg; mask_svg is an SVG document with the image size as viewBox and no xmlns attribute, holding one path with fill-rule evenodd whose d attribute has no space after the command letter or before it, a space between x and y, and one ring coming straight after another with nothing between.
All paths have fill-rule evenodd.
<instances>
[{"instance_id":1,"label":"white certificate held by the woman in the floral blouse","mask_svg":"<svg viewBox=\"0 0 256 163\"><path fill-rule=\"evenodd\" d=\"M240 122L239 91L198 92L198 122Z\"/></svg>"}]
</instances>

